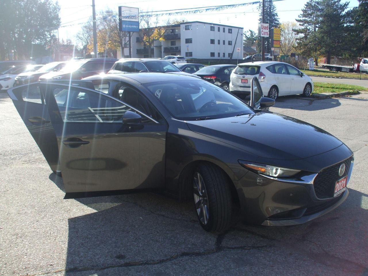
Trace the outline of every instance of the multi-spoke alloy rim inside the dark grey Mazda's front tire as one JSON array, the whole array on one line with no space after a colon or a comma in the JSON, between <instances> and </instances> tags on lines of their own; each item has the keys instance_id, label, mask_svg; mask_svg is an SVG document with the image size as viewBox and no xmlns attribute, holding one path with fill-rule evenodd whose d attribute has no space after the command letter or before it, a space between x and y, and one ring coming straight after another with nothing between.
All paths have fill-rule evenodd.
<instances>
[{"instance_id":1,"label":"multi-spoke alloy rim inside the dark grey Mazda's front tire","mask_svg":"<svg viewBox=\"0 0 368 276\"><path fill-rule=\"evenodd\" d=\"M194 174L193 195L195 209L199 220L206 225L208 223L209 208L206 186L200 173Z\"/></svg>"}]
</instances>

